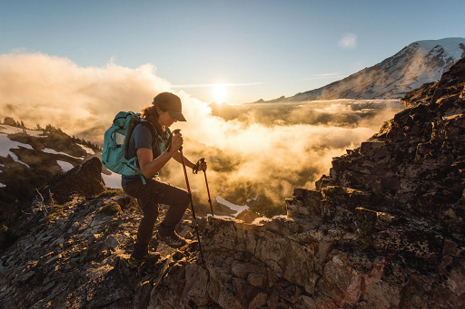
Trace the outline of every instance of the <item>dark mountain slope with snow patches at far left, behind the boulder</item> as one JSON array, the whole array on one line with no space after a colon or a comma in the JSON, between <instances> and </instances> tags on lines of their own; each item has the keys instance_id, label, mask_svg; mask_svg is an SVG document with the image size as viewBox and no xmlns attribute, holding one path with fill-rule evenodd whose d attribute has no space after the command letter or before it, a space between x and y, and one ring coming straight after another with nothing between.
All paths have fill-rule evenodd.
<instances>
[{"instance_id":1,"label":"dark mountain slope with snow patches at far left, behind the boulder","mask_svg":"<svg viewBox=\"0 0 465 309\"><path fill-rule=\"evenodd\" d=\"M96 147L91 149L83 142L88 143L51 126L27 130L0 124L0 222L15 221L21 214L21 202L35 193L35 188L43 188L57 175L98 156Z\"/></svg>"}]
</instances>

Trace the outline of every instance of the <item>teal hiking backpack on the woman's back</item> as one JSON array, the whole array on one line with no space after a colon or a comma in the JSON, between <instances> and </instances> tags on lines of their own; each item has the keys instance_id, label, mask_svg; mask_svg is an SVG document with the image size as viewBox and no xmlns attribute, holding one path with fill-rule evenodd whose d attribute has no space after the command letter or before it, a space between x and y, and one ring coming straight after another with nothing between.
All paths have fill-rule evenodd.
<instances>
[{"instance_id":1,"label":"teal hiking backpack on the woman's back","mask_svg":"<svg viewBox=\"0 0 465 309\"><path fill-rule=\"evenodd\" d=\"M112 126L105 131L102 163L105 168L117 174L124 174L127 176L141 175L143 184L145 184L142 171L137 164L137 157L128 158L127 156L131 134L135 126L140 123L150 130L153 138L158 136L158 134L155 133L156 130L153 128L153 124L141 118L140 113L120 111L116 114Z\"/></svg>"}]
</instances>

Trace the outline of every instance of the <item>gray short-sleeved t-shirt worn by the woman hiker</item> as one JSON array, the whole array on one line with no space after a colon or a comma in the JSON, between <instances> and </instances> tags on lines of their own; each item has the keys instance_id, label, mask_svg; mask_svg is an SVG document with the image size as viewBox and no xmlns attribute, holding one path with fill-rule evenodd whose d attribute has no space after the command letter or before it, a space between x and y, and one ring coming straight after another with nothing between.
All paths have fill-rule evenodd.
<instances>
[{"instance_id":1,"label":"gray short-sleeved t-shirt worn by the woman hiker","mask_svg":"<svg viewBox=\"0 0 465 309\"><path fill-rule=\"evenodd\" d=\"M153 130L155 130L153 128ZM136 151L139 148L147 148L152 150L153 159L158 158L164 151L165 145L168 142L169 130L165 131L165 138L163 139L158 134L153 140L152 133L149 128L143 124L138 124L135 126L133 133L131 134L131 139L129 140L129 149L128 149L128 158L133 158L137 155ZM158 177L158 173L153 175L153 178ZM141 175L128 176L122 175L121 180L123 182L131 182L137 179L141 179ZM146 178L145 178L146 179Z\"/></svg>"}]
</instances>

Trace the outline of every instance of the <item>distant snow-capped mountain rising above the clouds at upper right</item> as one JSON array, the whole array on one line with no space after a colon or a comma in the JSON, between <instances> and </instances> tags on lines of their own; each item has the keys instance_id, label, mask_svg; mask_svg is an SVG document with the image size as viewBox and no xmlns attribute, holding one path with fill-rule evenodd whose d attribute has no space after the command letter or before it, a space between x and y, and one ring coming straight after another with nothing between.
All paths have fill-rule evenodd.
<instances>
[{"instance_id":1,"label":"distant snow-capped mountain rising above the clouds at upper right","mask_svg":"<svg viewBox=\"0 0 465 309\"><path fill-rule=\"evenodd\" d=\"M452 63L464 56L464 38L418 41L341 81L272 101L401 99L423 83L439 80Z\"/></svg>"}]
</instances>

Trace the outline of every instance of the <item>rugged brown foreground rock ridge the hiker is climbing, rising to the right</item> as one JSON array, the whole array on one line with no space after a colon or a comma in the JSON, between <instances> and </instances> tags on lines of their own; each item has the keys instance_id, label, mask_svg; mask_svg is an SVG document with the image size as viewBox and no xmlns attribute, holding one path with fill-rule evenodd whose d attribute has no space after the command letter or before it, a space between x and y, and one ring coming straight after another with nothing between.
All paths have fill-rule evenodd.
<instances>
[{"instance_id":1,"label":"rugged brown foreground rock ridge the hiker is climbing, rising to the right","mask_svg":"<svg viewBox=\"0 0 465 309\"><path fill-rule=\"evenodd\" d=\"M130 267L140 213L122 192L78 198L2 253L0 302L25 308L465 307L465 60L411 108L334 158L287 217L252 225L187 212L173 250ZM438 94L438 95L437 95ZM98 178L97 178L98 179ZM114 207L111 207L114 209ZM117 207L116 207L117 208ZM163 212L166 208L162 208ZM157 246L158 245L158 246Z\"/></svg>"}]
</instances>

